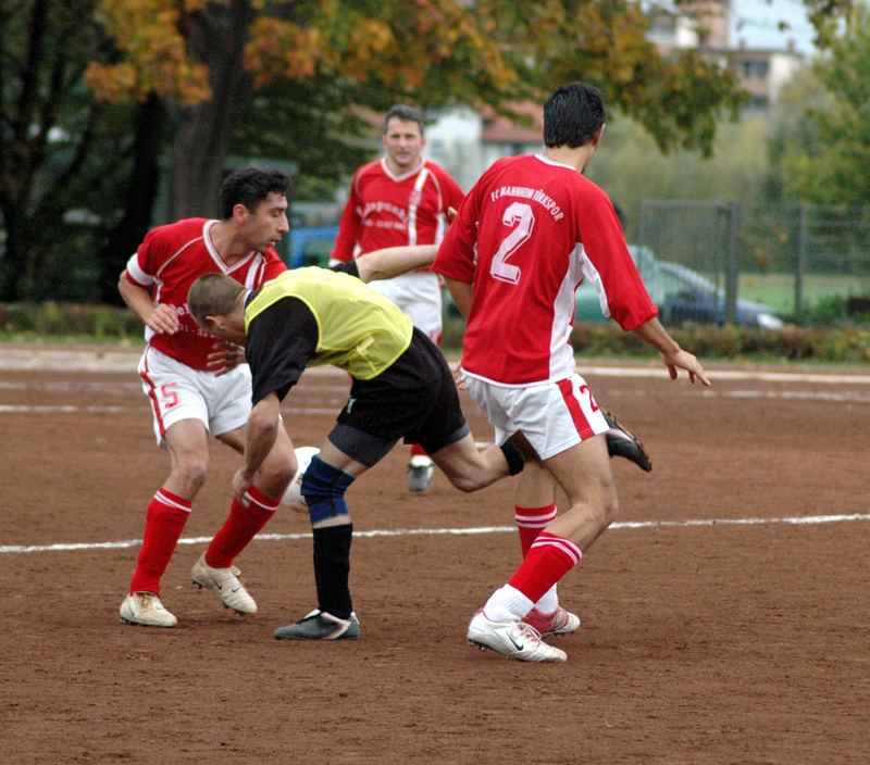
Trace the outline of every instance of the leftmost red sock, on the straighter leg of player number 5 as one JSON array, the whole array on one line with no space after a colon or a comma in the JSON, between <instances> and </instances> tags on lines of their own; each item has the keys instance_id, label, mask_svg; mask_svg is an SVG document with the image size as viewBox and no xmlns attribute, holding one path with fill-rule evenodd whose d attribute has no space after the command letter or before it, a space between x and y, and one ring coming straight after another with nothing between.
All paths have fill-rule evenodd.
<instances>
[{"instance_id":1,"label":"leftmost red sock, on the straighter leg of player number 5","mask_svg":"<svg viewBox=\"0 0 870 765\"><path fill-rule=\"evenodd\" d=\"M145 516L142 547L129 582L130 592L160 594L160 580L189 517L190 500L158 489Z\"/></svg>"}]
</instances>

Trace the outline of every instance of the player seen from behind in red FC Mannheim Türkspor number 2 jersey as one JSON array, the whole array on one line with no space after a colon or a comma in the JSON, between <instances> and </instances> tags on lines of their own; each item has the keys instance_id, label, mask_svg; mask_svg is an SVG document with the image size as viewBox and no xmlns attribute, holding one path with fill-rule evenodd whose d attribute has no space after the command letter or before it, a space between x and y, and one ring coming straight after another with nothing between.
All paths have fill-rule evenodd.
<instances>
[{"instance_id":1,"label":"player seen from behind in red FC Mannheim T\u00fcrkspor number 2 jersey","mask_svg":"<svg viewBox=\"0 0 870 765\"><path fill-rule=\"evenodd\" d=\"M472 643L523 661L566 661L524 619L618 510L599 437L609 426L574 368L576 287L592 281L602 310L658 350L672 379L684 369L693 384L710 384L659 323L613 205L583 175L605 116L593 86L556 90L544 105L545 151L498 160L481 176L434 264L468 319L462 379L497 442L520 434L570 502L537 529L520 567L469 625Z\"/></svg>"}]
</instances>

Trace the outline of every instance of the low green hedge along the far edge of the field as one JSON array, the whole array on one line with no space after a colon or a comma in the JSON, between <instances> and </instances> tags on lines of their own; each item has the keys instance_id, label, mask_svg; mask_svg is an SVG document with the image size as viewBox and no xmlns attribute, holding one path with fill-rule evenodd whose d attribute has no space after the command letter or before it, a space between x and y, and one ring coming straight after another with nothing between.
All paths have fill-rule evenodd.
<instances>
[{"instance_id":1,"label":"low green hedge along the far edge of the field","mask_svg":"<svg viewBox=\"0 0 870 765\"><path fill-rule=\"evenodd\" d=\"M464 323L448 316L445 348L462 344ZM670 329L676 341L701 359L780 359L831 363L870 362L870 326L819 328L788 326L779 331L750 327L687 324ZM122 308L78 303L0 303L0 334L30 339L138 340L142 325ZM588 356L652 356L632 333L616 324L579 324L574 348Z\"/></svg>"}]
</instances>

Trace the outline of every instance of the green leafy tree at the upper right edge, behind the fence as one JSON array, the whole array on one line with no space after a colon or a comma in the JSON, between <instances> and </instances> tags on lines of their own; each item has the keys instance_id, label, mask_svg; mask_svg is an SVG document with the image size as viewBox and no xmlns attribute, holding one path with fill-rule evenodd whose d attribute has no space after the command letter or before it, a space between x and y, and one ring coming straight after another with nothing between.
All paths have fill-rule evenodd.
<instances>
[{"instance_id":1,"label":"green leafy tree at the upper right edge, behind the fence","mask_svg":"<svg viewBox=\"0 0 870 765\"><path fill-rule=\"evenodd\" d=\"M801 104L782 142L785 192L822 204L870 204L870 9L848 27L812 72L823 90ZM818 91L817 91L818 92Z\"/></svg>"}]
</instances>

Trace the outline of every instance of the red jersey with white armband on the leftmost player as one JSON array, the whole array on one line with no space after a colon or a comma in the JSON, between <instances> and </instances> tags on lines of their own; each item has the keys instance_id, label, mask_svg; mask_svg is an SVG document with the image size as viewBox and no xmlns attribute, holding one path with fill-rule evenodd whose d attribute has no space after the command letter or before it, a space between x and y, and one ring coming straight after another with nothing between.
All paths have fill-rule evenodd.
<instances>
[{"instance_id":1,"label":"red jersey with white armband on the leftmost player","mask_svg":"<svg viewBox=\"0 0 870 765\"><path fill-rule=\"evenodd\" d=\"M217 221L187 218L150 230L127 262L130 284L148 289L154 305L166 303L178 313L181 327L174 335L154 334L146 327L145 339L157 350L194 369L208 369L208 354L217 338L200 329L187 308L187 292L203 274L226 274L248 289L287 269L278 253L270 248L263 255L250 251L227 266L211 240Z\"/></svg>"}]
</instances>

